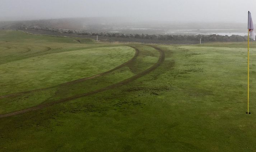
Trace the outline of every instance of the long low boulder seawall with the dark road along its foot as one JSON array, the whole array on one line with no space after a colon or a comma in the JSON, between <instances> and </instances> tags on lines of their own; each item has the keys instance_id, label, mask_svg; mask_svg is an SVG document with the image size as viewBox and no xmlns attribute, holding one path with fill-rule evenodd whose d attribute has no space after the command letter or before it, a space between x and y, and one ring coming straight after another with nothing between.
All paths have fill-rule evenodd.
<instances>
[{"instance_id":1,"label":"long low boulder seawall with the dark road along its foot","mask_svg":"<svg viewBox=\"0 0 256 152\"><path fill-rule=\"evenodd\" d=\"M209 42L243 42L247 41L247 36L240 35L161 35L161 34L120 34L120 33L92 33L78 30L68 29L27 29L21 28L20 30L32 33L32 34L45 34L45 35L58 35L58 36L71 36L95 39L98 36L100 41L120 41L120 42L138 42L138 43L156 43L156 44L199 44Z\"/></svg>"}]
</instances>

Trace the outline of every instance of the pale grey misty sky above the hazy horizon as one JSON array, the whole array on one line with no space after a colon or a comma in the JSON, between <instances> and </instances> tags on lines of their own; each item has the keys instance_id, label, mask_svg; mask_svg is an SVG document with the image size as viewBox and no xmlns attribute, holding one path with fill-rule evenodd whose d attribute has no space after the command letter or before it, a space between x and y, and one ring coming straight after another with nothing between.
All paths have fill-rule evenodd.
<instances>
[{"instance_id":1,"label":"pale grey misty sky above the hazy horizon","mask_svg":"<svg viewBox=\"0 0 256 152\"><path fill-rule=\"evenodd\" d=\"M0 0L0 20L132 17L161 21L256 23L256 0Z\"/></svg>"}]
</instances>

